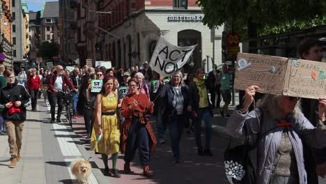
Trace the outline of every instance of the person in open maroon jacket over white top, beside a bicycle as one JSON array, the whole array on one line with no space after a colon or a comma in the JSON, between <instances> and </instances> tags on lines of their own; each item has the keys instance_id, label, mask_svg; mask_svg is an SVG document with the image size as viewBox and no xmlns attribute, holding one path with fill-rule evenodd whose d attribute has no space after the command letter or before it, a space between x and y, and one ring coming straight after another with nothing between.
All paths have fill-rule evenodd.
<instances>
[{"instance_id":1,"label":"person in open maroon jacket over white top, beside a bicycle","mask_svg":"<svg viewBox=\"0 0 326 184\"><path fill-rule=\"evenodd\" d=\"M49 77L49 92L47 96L49 98L49 104L51 106L51 123L54 123L54 116L56 114L56 103L58 104L58 114L56 116L56 123L61 123L61 112L63 107L63 93L62 91L67 91L68 89L74 90L75 86L70 82L70 79L64 75L63 66L56 66L56 73L53 73Z\"/></svg>"}]
</instances>

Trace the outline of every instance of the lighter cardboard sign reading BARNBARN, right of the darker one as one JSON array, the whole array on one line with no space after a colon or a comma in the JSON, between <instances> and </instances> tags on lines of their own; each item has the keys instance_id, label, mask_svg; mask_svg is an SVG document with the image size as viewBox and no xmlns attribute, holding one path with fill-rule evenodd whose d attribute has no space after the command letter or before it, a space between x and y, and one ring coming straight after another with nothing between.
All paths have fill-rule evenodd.
<instances>
[{"instance_id":1,"label":"lighter cardboard sign reading BARNBARN, right of the darker one","mask_svg":"<svg viewBox=\"0 0 326 184\"><path fill-rule=\"evenodd\" d=\"M326 97L326 63L289 59L284 95L314 98Z\"/></svg>"}]
</instances>

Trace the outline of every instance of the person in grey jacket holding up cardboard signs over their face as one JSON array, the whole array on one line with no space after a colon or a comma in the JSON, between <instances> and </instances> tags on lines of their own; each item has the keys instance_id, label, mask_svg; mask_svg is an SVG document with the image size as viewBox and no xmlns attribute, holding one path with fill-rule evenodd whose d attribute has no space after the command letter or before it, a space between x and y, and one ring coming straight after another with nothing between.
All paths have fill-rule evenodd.
<instances>
[{"instance_id":1,"label":"person in grey jacket holding up cardboard signs over their face","mask_svg":"<svg viewBox=\"0 0 326 184\"><path fill-rule=\"evenodd\" d=\"M302 114L296 97L267 94L249 112L258 89L249 86L245 90L242 107L226 123L228 134L240 139L247 135L249 142L257 142L256 183L307 183L302 144L326 146L326 98L318 100L319 121L314 127Z\"/></svg>"}]
</instances>

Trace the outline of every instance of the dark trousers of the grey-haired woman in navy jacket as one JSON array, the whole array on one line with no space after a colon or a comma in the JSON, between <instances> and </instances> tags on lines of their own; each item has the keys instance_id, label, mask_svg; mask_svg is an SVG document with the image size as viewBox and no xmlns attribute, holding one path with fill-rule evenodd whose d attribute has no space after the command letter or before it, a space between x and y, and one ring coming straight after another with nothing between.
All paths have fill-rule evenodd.
<instances>
[{"instance_id":1,"label":"dark trousers of the grey-haired woman in navy jacket","mask_svg":"<svg viewBox=\"0 0 326 184\"><path fill-rule=\"evenodd\" d=\"M181 136L183 135L183 127L185 126L185 120L185 115L181 114L175 115L171 120L169 120L169 123L167 123L170 132L173 158L175 160L179 160L180 158L179 143Z\"/></svg>"}]
</instances>

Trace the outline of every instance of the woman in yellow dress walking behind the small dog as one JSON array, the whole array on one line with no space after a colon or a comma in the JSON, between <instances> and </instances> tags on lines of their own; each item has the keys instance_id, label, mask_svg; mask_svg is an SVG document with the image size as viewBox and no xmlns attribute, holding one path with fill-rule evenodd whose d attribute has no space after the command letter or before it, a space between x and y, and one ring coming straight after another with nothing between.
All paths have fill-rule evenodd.
<instances>
[{"instance_id":1,"label":"woman in yellow dress walking behind the small dog","mask_svg":"<svg viewBox=\"0 0 326 184\"><path fill-rule=\"evenodd\" d=\"M116 162L120 144L120 126L116 115L118 95L116 94L113 78L104 78L102 90L96 97L96 119L91 137L91 150L101 153L105 171L111 176L120 178ZM96 143L97 137L102 139ZM97 145L96 145L97 144ZM109 172L108 155L112 158L112 170Z\"/></svg>"}]
</instances>

